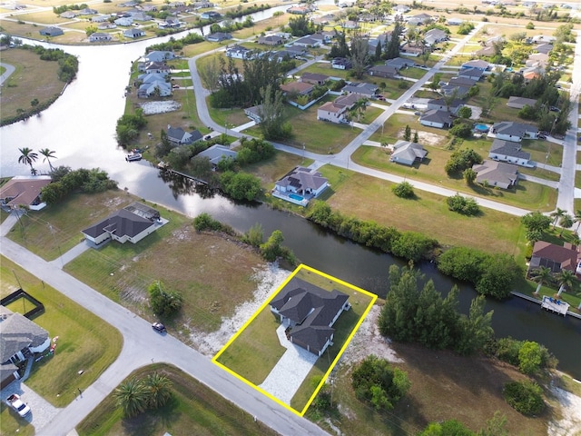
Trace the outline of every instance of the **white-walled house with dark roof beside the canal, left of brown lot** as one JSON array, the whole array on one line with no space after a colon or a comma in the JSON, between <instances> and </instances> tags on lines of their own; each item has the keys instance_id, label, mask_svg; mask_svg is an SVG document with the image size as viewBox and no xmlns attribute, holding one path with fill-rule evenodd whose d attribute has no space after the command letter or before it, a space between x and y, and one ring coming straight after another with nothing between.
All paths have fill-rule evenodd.
<instances>
[{"instance_id":1,"label":"white-walled house with dark roof beside the canal, left of brown lot","mask_svg":"<svg viewBox=\"0 0 581 436\"><path fill-rule=\"evenodd\" d=\"M135 202L81 233L85 239L97 245L110 239L119 243L138 243L164 223L167 220L163 220L158 211L146 204Z\"/></svg>"}]
</instances>

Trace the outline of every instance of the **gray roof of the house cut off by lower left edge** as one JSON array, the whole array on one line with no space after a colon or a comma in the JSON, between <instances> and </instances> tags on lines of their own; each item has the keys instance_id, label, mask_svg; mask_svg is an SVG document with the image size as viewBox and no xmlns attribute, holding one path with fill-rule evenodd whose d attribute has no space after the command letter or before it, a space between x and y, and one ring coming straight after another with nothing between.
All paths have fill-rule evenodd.
<instances>
[{"instance_id":1,"label":"gray roof of the house cut off by lower left edge","mask_svg":"<svg viewBox=\"0 0 581 436\"><path fill-rule=\"evenodd\" d=\"M48 339L48 332L24 315L0 306L0 362L4 363L26 347L38 347Z\"/></svg>"}]
</instances>

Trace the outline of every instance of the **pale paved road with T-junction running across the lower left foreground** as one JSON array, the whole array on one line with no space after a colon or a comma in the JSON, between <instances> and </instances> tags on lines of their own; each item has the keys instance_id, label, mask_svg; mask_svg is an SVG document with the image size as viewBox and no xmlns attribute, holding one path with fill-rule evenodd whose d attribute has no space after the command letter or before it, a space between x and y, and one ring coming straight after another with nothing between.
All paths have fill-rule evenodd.
<instances>
[{"instance_id":1,"label":"pale paved road with T-junction running across the lower left foreground","mask_svg":"<svg viewBox=\"0 0 581 436\"><path fill-rule=\"evenodd\" d=\"M79 282L54 264L45 262L4 236L0 237L0 247L8 259L94 312L123 334L123 350L118 359L83 392L82 399L73 401L60 411L53 421L36 432L37 435L67 434L129 373L153 361L172 363L281 434L327 434L317 425L287 411L261 392L222 371L201 353L170 335L154 332L149 322Z\"/></svg>"}]
</instances>

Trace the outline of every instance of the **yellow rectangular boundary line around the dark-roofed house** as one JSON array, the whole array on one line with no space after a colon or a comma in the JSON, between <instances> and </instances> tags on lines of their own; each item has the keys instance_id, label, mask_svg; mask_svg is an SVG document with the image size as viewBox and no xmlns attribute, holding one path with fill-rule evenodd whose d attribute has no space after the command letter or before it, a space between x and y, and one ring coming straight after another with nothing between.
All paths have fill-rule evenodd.
<instances>
[{"instance_id":1,"label":"yellow rectangular boundary line around the dark-roofed house","mask_svg":"<svg viewBox=\"0 0 581 436\"><path fill-rule=\"evenodd\" d=\"M371 298L371 301L369 302L369 305L365 309L365 311L363 312L363 314L359 317L359 321L357 322L357 324L353 328L353 331L350 333L350 335L347 338L347 340L345 341L345 343L343 343L343 346L340 349L340 352L337 354L337 357L330 364L329 370L327 370L327 372L325 372L325 375L323 375L323 377L321 378L319 385L317 386L317 388L315 389L315 391L310 396L310 399L309 399L309 401L307 401L307 404L305 404L305 407L302 409L302 411L297 411L297 410L293 409L289 404L286 404L285 402L283 402L283 401L279 400L278 398L276 398L275 396L273 396L271 393L269 393L267 391L264 391L263 389L261 389L260 387L256 386L254 383L252 383L251 381L246 380L240 374L238 374L236 372L233 372L230 368L228 368L227 366L224 366L222 363L218 362L218 359L222 355L222 352L225 352L226 351L226 349L231 345L231 343L234 342L236 340L236 338L238 338L238 336L240 336L241 332L243 332L244 329L246 329L246 327L248 327L251 324L251 322L254 321L254 319L259 315L259 313L261 313L262 310L265 309L266 306L269 305L269 303L271 302L271 300L274 297L276 297L276 295L279 292L281 292L281 289L284 288L287 285L287 283L290 282L291 279L298 272L300 272L300 270L302 270L302 269L304 269L306 271L309 271L309 272L314 272L316 274L319 274L321 277L324 277L326 279L329 279L331 282L340 283L343 286L346 286L346 287L352 289L353 291L361 292L362 294L369 296ZM281 404L281 406L284 407L285 409L288 409L289 411L292 411L293 413L295 413L295 414L297 414L299 416L303 416L305 414L305 412L309 409L310 403L315 400L315 397L319 393L320 389L323 387L323 384L325 384L325 381L327 381L327 379L329 378L330 372L333 370L333 368L335 368L335 365L337 364L337 362L339 362L341 355L343 354L343 352L345 352L345 349L350 344L350 342L353 339L353 336L355 335L355 333L359 330L359 326L361 325L361 323L363 322L363 320L365 320L365 317L368 315L369 311L371 310L371 307L373 306L373 304L375 303L375 301L377 299L378 299L378 296L376 294L374 294L374 293L371 293L371 292L368 292L368 291L364 291L364 290L358 288L357 286L355 286L353 284L350 284L348 282L343 282L342 280L337 279L335 277L332 277L329 274L326 274L324 272L320 272L318 270L315 270L314 268L310 268L310 266L307 266L307 265L304 265L304 264L300 264L297 267L297 269L294 270L291 273L291 275L284 282L282 282L281 286L279 286L279 288L276 290L276 292L273 292L272 293L271 298L269 298L266 302L263 302L262 305L261 305L261 307L256 312L254 312L254 314L251 316L251 319L244 323L244 325L242 326L242 328L231 337L230 341L226 342L226 344L222 347L222 350L220 350L219 352L216 353L216 355L212 358L212 362L214 364L218 365L220 368L222 368L222 370L231 373L231 375L233 375L234 377L236 377L240 381L245 382L246 384L248 384L252 388L256 389L257 391L260 391L261 393L263 393L264 395L266 395L267 397L269 397L272 401L275 401L275 402Z\"/></svg>"}]
</instances>

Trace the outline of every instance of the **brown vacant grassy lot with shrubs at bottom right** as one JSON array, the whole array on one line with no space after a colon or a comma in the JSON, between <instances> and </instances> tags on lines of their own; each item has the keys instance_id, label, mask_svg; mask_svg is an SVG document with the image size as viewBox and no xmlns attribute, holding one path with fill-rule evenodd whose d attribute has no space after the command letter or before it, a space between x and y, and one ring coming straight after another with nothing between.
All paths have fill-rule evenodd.
<instances>
[{"instance_id":1,"label":"brown vacant grassy lot with shrubs at bottom right","mask_svg":"<svg viewBox=\"0 0 581 436\"><path fill-rule=\"evenodd\" d=\"M415 345L393 343L392 347L404 361L394 366L408 372L408 395L392 411L375 411L355 397L352 367L340 365L333 389L340 417L331 423L343 434L417 434L428 422L451 419L478 431L486 428L486 421L495 411L507 416L507 434L547 433L547 421L554 413L550 403L541 416L527 418L504 401L503 385L526 378L515 369L484 358L464 358ZM326 422L320 425L329 429Z\"/></svg>"}]
</instances>

